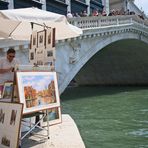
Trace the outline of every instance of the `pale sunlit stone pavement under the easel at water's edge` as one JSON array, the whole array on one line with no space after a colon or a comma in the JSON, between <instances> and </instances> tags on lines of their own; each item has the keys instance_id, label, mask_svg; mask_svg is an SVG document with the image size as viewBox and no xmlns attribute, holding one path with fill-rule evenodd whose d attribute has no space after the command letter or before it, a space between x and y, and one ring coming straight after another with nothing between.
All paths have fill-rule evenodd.
<instances>
[{"instance_id":1,"label":"pale sunlit stone pavement under the easel at water's edge","mask_svg":"<svg viewBox=\"0 0 148 148\"><path fill-rule=\"evenodd\" d=\"M37 136L24 138L22 148L85 148L74 120L67 114L62 115L61 124L50 126L49 131L50 139Z\"/></svg>"}]
</instances>

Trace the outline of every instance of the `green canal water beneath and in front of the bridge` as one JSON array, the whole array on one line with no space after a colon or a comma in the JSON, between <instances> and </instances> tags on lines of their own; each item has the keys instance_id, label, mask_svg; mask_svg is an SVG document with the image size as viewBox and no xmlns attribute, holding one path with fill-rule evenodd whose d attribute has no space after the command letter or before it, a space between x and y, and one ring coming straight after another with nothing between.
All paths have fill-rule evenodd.
<instances>
[{"instance_id":1,"label":"green canal water beneath and in front of the bridge","mask_svg":"<svg viewBox=\"0 0 148 148\"><path fill-rule=\"evenodd\" d=\"M148 87L75 87L61 95L86 148L148 148Z\"/></svg>"}]
</instances>

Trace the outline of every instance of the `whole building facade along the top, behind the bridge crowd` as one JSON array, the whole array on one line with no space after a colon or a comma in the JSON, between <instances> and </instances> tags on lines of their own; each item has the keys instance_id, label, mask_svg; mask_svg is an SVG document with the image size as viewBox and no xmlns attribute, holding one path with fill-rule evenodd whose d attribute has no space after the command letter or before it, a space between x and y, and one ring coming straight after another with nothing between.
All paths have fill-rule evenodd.
<instances>
[{"instance_id":1,"label":"whole building facade along the top, behind the bridge crowd","mask_svg":"<svg viewBox=\"0 0 148 148\"><path fill-rule=\"evenodd\" d=\"M134 0L0 0L0 10L37 7L39 9L66 15L86 11L88 15L94 10L107 14L113 9L119 11L134 11L141 15L141 11L134 4Z\"/></svg>"}]
</instances>

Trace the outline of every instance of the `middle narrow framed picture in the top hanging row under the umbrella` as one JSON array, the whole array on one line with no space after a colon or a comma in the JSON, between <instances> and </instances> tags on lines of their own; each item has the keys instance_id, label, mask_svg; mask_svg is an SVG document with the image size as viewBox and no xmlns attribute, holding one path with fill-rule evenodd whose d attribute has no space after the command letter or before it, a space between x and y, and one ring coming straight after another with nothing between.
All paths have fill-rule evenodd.
<instances>
[{"instance_id":1,"label":"middle narrow framed picture in the top hanging row under the umbrella","mask_svg":"<svg viewBox=\"0 0 148 148\"><path fill-rule=\"evenodd\" d=\"M45 30L37 32L37 47L45 47Z\"/></svg>"}]
</instances>

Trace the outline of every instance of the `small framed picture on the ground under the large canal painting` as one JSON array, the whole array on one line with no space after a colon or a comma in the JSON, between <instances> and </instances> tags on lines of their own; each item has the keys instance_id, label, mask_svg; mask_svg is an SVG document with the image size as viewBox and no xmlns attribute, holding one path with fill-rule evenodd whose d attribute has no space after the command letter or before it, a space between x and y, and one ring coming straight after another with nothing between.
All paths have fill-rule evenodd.
<instances>
[{"instance_id":1,"label":"small framed picture on the ground under the large canal painting","mask_svg":"<svg viewBox=\"0 0 148 148\"><path fill-rule=\"evenodd\" d=\"M50 126L62 122L61 107L48 109L48 121ZM47 116L43 119L43 122L47 122Z\"/></svg>"}]
</instances>

